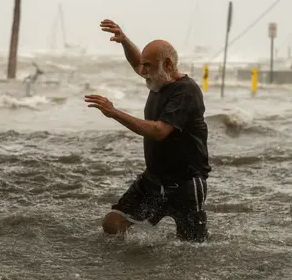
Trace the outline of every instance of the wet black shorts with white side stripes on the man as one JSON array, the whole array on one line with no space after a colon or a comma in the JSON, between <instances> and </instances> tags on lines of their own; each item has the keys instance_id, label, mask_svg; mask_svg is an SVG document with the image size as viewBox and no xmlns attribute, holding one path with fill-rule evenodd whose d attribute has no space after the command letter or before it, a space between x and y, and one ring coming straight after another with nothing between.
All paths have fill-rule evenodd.
<instances>
[{"instance_id":1,"label":"wet black shorts with white side stripes on the man","mask_svg":"<svg viewBox=\"0 0 292 280\"><path fill-rule=\"evenodd\" d=\"M161 183L143 173L112 206L112 211L132 223L148 221L156 225L162 218L172 217L179 239L203 242L208 235L206 195L207 183L201 177Z\"/></svg>"}]
</instances>

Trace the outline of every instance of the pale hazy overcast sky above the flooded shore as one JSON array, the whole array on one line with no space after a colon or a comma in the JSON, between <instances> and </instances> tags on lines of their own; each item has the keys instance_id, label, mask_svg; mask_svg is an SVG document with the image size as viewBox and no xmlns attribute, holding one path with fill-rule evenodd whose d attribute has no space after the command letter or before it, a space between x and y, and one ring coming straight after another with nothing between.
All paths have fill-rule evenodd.
<instances>
[{"instance_id":1,"label":"pale hazy overcast sky above the flooded shore","mask_svg":"<svg viewBox=\"0 0 292 280\"><path fill-rule=\"evenodd\" d=\"M230 39L237 36L275 0L234 0L234 18ZM8 49L13 0L1 0L0 49ZM142 48L162 38L180 53L193 45L205 45L216 53L224 44L228 1L226 0L22 0L20 49L49 49L50 34L58 3L62 4L68 42L81 44L91 52L121 54L121 48L109 42L109 34L99 30L104 18L117 21L127 35ZM230 48L244 57L269 56L268 23L278 23L275 46L286 55L292 45L292 1L282 0L260 23ZM188 30L191 28L189 36ZM58 28L57 42L61 46Z\"/></svg>"}]
</instances>

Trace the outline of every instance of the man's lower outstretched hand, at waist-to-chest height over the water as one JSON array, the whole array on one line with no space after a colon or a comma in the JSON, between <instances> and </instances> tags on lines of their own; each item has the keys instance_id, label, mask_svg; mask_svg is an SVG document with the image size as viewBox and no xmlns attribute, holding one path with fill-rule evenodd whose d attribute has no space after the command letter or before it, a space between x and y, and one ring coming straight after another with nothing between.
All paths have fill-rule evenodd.
<instances>
[{"instance_id":1,"label":"man's lower outstretched hand, at waist-to-chest height over the water","mask_svg":"<svg viewBox=\"0 0 292 280\"><path fill-rule=\"evenodd\" d=\"M113 103L100 95L85 95L85 102L90 103L88 107L99 109L106 117L112 118L117 110Z\"/></svg>"}]
</instances>

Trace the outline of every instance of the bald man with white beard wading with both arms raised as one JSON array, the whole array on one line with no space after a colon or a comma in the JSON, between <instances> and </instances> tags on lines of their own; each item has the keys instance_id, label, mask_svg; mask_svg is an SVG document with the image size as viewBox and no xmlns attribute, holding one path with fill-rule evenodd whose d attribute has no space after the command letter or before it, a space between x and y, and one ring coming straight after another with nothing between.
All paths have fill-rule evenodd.
<instances>
[{"instance_id":1,"label":"bald man with white beard wading with both arms raised","mask_svg":"<svg viewBox=\"0 0 292 280\"><path fill-rule=\"evenodd\" d=\"M116 23L107 19L100 26L114 34L111 41L122 44L128 62L150 90L145 120L116 109L103 96L85 96L88 107L144 138L146 170L112 206L103 229L121 234L135 223L148 221L154 226L169 216L180 240L203 242L208 236L204 202L211 168L202 92L178 72L178 55L168 42L155 40L140 53Z\"/></svg>"}]
</instances>

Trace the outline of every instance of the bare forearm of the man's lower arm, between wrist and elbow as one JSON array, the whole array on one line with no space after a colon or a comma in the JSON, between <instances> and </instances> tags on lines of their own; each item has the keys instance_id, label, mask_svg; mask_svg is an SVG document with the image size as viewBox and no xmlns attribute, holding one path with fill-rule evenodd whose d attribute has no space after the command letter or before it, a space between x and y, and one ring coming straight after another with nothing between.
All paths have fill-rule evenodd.
<instances>
[{"instance_id":1,"label":"bare forearm of the man's lower arm, between wrist and elbow","mask_svg":"<svg viewBox=\"0 0 292 280\"><path fill-rule=\"evenodd\" d=\"M113 119L139 135L159 139L159 129L154 121L141 120L119 110L115 110Z\"/></svg>"}]
</instances>

